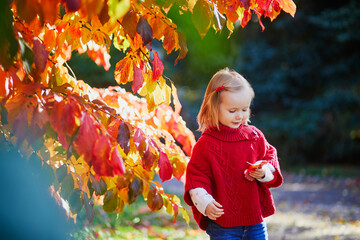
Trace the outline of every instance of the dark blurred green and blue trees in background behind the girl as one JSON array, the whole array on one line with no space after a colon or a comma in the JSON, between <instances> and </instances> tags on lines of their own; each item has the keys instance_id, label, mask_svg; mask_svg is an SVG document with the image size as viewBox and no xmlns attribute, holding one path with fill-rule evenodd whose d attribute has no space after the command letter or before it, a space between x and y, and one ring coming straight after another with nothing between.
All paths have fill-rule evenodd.
<instances>
[{"instance_id":1,"label":"dark blurred green and blue trees in background behind the girl","mask_svg":"<svg viewBox=\"0 0 360 240\"><path fill-rule=\"evenodd\" d=\"M173 66L164 56L164 74L178 87L181 115L196 132L196 115L206 85L220 68L230 67L253 85L252 124L275 145L284 168L304 164L358 165L360 154L360 3L294 1L295 18L281 13L262 32L253 17L228 38L223 29L200 39L190 15L170 11L188 36L189 52ZM156 47L156 44L155 44ZM112 53L111 53L112 54ZM119 53L117 53L119 54ZM166 54L164 54L166 55ZM115 84L112 54L105 72L86 56L72 58L79 79L92 86Z\"/></svg>"}]
</instances>

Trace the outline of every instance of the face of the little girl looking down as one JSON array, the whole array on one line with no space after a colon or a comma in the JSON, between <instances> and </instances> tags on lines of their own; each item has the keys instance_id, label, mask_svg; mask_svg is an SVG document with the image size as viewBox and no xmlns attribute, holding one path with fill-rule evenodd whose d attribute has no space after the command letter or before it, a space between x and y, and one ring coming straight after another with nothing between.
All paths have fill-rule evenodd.
<instances>
[{"instance_id":1,"label":"face of the little girl looking down","mask_svg":"<svg viewBox=\"0 0 360 240\"><path fill-rule=\"evenodd\" d=\"M221 92L219 122L230 128L238 128L250 117L251 100L251 93L247 88L236 92Z\"/></svg>"}]
</instances>

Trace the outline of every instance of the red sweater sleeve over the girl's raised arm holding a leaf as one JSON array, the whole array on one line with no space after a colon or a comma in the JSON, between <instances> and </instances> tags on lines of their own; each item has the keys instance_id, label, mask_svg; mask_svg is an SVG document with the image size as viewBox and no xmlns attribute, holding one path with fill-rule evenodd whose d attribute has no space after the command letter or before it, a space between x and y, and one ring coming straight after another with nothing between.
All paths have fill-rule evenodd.
<instances>
[{"instance_id":1,"label":"red sweater sleeve over the girl's raised arm holding a leaf","mask_svg":"<svg viewBox=\"0 0 360 240\"><path fill-rule=\"evenodd\" d=\"M273 172L274 178L271 181L266 182L264 184L268 188L279 187L283 182L283 177L282 177L281 170L280 170L280 164L279 164L279 160L277 157L276 148L268 143L264 134L260 130L256 129L256 131L260 133L259 134L260 135L259 136L260 137L260 139L259 139L259 160L266 160L275 169L275 171Z\"/></svg>"}]
</instances>

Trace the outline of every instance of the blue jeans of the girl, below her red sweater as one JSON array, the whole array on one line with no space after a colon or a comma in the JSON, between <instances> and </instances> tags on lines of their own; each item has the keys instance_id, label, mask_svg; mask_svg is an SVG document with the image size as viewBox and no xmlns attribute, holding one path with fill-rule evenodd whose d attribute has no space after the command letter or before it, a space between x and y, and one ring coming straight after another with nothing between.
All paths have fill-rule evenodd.
<instances>
[{"instance_id":1,"label":"blue jeans of the girl, below her red sweater","mask_svg":"<svg viewBox=\"0 0 360 240\"><path fill-rule=\"evenodd\" d=\"M249 226L222 227L210 220L206 233L210 240L268 240L265 222Z\"/></svg>"}]
</instances>

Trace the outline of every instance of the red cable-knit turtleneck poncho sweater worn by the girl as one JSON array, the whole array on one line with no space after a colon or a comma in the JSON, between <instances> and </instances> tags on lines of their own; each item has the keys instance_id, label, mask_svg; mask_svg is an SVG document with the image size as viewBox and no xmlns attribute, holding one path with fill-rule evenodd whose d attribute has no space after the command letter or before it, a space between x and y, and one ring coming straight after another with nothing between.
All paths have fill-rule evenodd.
<instances>
[{"instance_id":1,"label":"red cable-knit turtleneck poncho sweater worn by the girl","mask_svg":"<svg viewBox=\"0 0 360 240\"><path fill-rule=\"evenodd\" d=\"M245 178L249 163L258 160L268 160L275 167L275 181L261 183ZM209 218L196 209L189 194L190 189L198 187L223 206L224 214L216 223L223 227L253 225L274 214L275 205L268 188L278 187L282 181L276 149L260 130L250 125L236 129L220 125L220 131L217 128L204 131L193 148L186 170L184 200L192 207L203 230Z\"/></svg>"}]
</instances>

